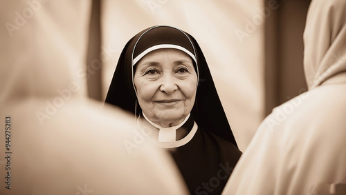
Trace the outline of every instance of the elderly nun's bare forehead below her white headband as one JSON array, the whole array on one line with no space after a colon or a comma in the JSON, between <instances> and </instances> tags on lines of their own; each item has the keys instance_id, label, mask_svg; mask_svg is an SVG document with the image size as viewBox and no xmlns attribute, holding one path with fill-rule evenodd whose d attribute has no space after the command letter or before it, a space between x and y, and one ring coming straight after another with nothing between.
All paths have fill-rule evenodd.
<instances>
[{"instance_id":1,"label":"elderly nun's bare forehead below her white headband","mask_svg":"<svg viewBox=\"0 0 346 195\"><path fill-rule=\"evenodd\" d=\"M176 49L158 49L146 54L140 61L138 65L143 64L147 61L162 61L164 57L167 57L170 61L188 61L192 63L191 57L181 50Z\"/></svg>"}]
</instances>

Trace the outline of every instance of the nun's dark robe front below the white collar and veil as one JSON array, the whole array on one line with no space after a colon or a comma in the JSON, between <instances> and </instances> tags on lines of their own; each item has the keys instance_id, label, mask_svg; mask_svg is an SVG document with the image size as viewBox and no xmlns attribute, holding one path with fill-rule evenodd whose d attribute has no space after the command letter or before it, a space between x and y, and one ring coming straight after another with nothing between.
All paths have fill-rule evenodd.
<instances>
[{"instance_id":1,"label":"nun's dark robe front below the white collar and veil","mask_svg":"<svg viewBox=\"0 0 346 195\"><path fill-rule=\"evenodd\" d=\"M193 120L183 125L191 129ZM199 127L172 156L191 194L221 194L242 152L233 143Z\"/></svg>"}]
</instances>

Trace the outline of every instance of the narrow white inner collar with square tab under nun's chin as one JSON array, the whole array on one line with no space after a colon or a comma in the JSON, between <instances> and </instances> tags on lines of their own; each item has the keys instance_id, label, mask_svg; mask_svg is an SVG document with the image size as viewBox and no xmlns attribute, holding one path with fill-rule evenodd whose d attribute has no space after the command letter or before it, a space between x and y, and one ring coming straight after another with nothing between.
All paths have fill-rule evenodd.
<instances>
[{"instance_id":1,"label":"narrow white inner collar with square tab under nun's chin","mask_svg":"<svg viewBox=\"0 0 346 195\"><path fill-rule=\"evenodd\" d=\"M144 112L142 112L145 120L150 123L150 125L153 125L154 127L158 128L158 141L159 142L174 142L176 141L176 130L178 130L183 124L188 121L190 117L190 113L188 116L185 117L184 121L181 122L179 125L173 126L173 127L161 127L160 125L157 125L150 121L147 116L145 116Z\"/></svg>"}]
</instances>

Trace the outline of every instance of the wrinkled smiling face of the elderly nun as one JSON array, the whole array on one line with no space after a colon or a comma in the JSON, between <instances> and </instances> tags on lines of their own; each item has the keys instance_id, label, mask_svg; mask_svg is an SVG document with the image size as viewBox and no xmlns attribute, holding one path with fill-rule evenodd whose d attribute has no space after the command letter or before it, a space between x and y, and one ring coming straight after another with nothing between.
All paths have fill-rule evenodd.
<instances>
[{"instance_id":1,"label":"wrinkled smiling face of the elderly nun","mask_svg":"<svg viewBox=\"0 0 346 195\"><path fill-rule=\"evenodd\" d=\"M185 52L159 49L137 63L134 85L145 116L162 127L170 127L179 125L191 112L197 74Z\"/></svg>"}]
</instances>

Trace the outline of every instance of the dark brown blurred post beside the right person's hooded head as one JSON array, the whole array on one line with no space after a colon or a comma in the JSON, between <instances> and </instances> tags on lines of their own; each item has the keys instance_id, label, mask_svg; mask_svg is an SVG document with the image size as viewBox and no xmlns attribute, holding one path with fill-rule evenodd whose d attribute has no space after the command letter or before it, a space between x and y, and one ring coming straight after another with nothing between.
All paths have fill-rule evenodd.
<instances>
[{"instance_id":1,"label":"dark brown blurred post beside the right person's hooded head","mask_svg":"<svg viewBox=\"0 0 346 195\"><path fill-rule=\"evenodd\" d=\"M266 4L270 1L266 0ZM277 1L265 27L266 115L307 91L303 68L303 32L310 0Z\"/></svg>"}]
</instances>

